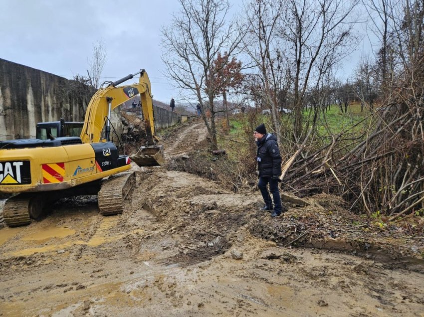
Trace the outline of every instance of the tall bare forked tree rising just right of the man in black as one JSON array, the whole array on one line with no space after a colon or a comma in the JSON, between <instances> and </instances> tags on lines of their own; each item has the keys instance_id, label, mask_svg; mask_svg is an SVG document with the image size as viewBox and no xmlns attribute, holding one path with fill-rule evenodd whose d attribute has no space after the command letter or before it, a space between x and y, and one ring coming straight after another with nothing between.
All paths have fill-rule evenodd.
<instances>
[{"instance_id":1,"label":"tall bare forked tree rising just right of the man in black","mask_svg":"<svg viewBox=\"0 0 424 317\"><path fill-rule=\"evenodd\" d=\"M352 27L356 18L352 15L357 0L289 0L282 19L282 36L286 40L287 60L293 80L294 136L302 136L303 98L312 78L320 78L349 52ZM317 67L320 65L319 67Z\"/></svg>"}]
</instances>

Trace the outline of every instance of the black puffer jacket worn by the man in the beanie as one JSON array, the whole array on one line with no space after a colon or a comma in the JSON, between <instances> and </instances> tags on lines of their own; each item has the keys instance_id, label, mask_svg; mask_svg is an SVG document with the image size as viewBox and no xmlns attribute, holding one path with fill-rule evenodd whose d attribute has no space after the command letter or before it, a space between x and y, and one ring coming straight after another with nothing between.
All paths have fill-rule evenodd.
<instances>
[{"instance_id":1,"label":"black puffer jacket worn by the man in the beanie","mask_svg":"<svg viewBox=\"0 0 424 317\"><path fill-rule=\"evenodd\" d=\"M272 177L281 175L281 156L277 137L267 133L256 141L259 176Z\"/></svg>"}]
</instances>

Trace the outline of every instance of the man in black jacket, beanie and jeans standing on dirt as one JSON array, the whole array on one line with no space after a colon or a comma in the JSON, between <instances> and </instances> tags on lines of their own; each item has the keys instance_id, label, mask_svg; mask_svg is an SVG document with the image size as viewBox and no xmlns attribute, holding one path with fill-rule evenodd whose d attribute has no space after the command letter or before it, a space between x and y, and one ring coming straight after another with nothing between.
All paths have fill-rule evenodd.
<instances>
[{"instance_id":1,"label":"man in black jacket, beanie and jeans standing on dirt","mask_svg":"<svg viewBox=\"0 0 424 317\"><path fill-rule=\"evenodd\" d=\"M266 133L263 123L256 127L253 136L257 145L258 187L265 202L265 207L262 210L272 210L271 196L266 188L269 183L269 190L274 200L274 211L271 217L277 217L282 211L280 191L278 190L278 177L281 175L281 156L277 138L272 134Z\"/></svg>"}]
</instances>

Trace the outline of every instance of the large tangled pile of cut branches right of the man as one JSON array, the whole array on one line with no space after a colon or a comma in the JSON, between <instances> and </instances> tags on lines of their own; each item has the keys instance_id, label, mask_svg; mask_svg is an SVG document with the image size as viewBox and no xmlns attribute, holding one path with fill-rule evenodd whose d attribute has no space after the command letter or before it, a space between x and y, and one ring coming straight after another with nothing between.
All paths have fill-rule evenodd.
<instances>
[{"instance_id":1,"label":"large tangled pile of cut branches right of the man","mask_svg":"<svg viewBox=\"0 0 424 317\"><path fill-rule=\"evenodd\" d=\"M409 76L407 76L409 75ZM342 195L387 221L424 210L424 78L406 74L370 114L365 135L341 132L317 148L312 129L283 166L283 188ZM314 149L314 150L312 150ZM292 152L292 153L293 153Z\"/></svg>"}]
</instances>

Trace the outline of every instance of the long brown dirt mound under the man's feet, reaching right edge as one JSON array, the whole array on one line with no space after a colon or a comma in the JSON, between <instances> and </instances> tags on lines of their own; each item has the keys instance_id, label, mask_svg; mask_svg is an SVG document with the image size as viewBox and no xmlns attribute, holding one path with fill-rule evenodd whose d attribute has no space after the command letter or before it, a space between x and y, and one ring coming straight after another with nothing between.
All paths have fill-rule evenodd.
<instances>
[{"instance_id":1,"label":"long brown dirt mound under the man's feet, reaching right edge","mask_svg":"<svg viewBox=\"0 0 424 317\"><path fill-rule=\"evenodd\" d=\"M156 172L142 181L141 188L148 195L140 204L171 232L178 231L184 237L185 247L177 259L186 264L225 252L234 237L248 231L279 246L335 249L391 266L424 270L422 240L411 239L400 228L391 235L376 230L372 223L344 209L343 201L335 196L304 198L303 207L285 201L287 212L271 218L259 210L262 200L258 193L235 194L185 172ZM219 243L214 243L215 239Z\"/></svg>"}]
</instances>

